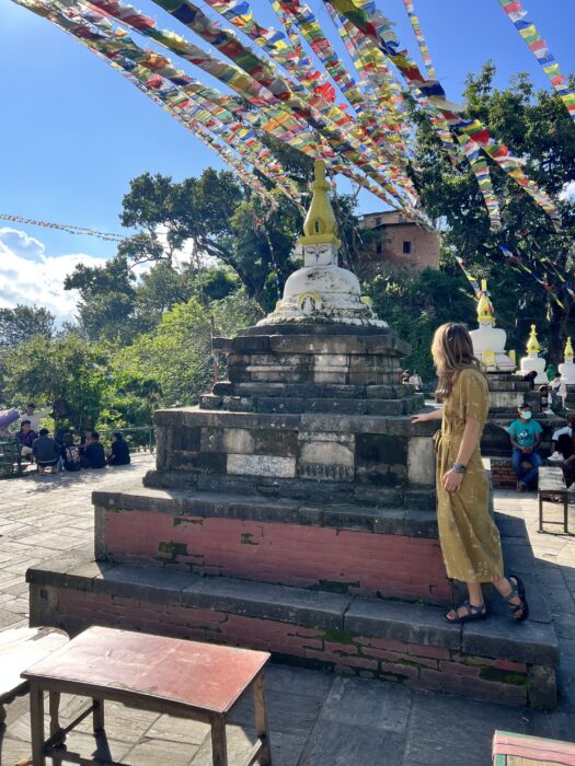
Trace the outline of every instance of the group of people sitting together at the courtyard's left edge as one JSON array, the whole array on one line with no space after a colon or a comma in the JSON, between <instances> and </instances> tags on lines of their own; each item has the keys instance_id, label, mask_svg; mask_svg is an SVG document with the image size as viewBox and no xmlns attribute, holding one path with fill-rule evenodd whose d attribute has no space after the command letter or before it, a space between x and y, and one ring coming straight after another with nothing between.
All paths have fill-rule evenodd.
<instances>
[{"instance_id":1,"label":"group of people sitting together at the courtyard's left edge","mask_svg":"<svg viewBox=\"0 0 575 766\"><path fill-rule=\"evenodd\" d=\"M20 442L22 457L36 464L39 475L47 471L56 474L127 465L130 462L128 443L119 431L114 433L107 449L101 443L100 433L91 428L85 429L78 440L70 430L60 430L50 436L47 428L39 427L48 413L49 409L37 409L33 403L28 404L15 421L19 429L11 432Z\"/></svg>"}]
</instances>

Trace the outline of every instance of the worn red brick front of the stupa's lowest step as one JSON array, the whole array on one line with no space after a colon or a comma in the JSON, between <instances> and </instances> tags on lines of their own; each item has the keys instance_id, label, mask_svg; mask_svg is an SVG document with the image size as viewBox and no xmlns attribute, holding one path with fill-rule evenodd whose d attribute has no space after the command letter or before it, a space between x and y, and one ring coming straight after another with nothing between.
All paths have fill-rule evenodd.
<instances>
[{"instance_id":1,"label":"worn red brick front of the stupa's lowest step","mask_svg":"<svg viewBox=\"0 0 575 766\"><path fill-rule=\"evenodd\" d=\"M44 590L53 612L45 624L74 634L89 625L136 629L162 636L216 641L272 651L309 666L379 677L410 688L511 705L528 704L531 665L462 654L442 647L352 636L343 630L302 627L204 608L151 603L73 589ZM36 601L37 601L36 594ZM536 671L540 670L536 666Z\"/></svg>"}]
</instances>

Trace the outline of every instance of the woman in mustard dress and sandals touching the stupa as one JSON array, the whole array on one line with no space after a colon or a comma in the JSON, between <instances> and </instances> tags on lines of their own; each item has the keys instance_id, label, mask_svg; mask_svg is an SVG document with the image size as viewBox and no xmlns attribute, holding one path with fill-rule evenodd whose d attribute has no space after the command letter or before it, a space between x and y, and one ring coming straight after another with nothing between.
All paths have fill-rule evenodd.
<instances>
[{"instance_id":1,"label":"woman in mustard dress and sandals touching the stupa","mask_svg":"<svg viewBox=\"0 0 575 766\"><path fill-rule=\"evenodd\" d=\"M416 415L413 422L441 420L436 433L437 524L449 578L467 583L469 599L450 610L448 623L485 619L482 582L492 582L515 620L529 615L525 587L516 574L504 577L499 531L488 511L488 485L480 452L487 418L487 382L473 356L463 325L445 324L434 336L441 409Z\"/></svg>"}]
</instances>

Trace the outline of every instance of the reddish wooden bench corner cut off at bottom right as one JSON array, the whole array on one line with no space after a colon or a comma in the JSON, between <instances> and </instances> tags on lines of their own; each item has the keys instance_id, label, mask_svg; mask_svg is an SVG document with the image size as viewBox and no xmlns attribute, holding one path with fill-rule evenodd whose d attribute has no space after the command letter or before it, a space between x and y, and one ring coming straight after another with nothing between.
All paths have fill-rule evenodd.
<instances>
[{"instance_id":1,"label":"reddish wooden bench corner cut off at bottom right","mask_svg":"<svg viewBox=\"0 0 575 766\"><path fill-rule=\"evenodd\" d=\"M575 766L575 744L496 731L493 766Z\"/></svg>"}]
</instances>

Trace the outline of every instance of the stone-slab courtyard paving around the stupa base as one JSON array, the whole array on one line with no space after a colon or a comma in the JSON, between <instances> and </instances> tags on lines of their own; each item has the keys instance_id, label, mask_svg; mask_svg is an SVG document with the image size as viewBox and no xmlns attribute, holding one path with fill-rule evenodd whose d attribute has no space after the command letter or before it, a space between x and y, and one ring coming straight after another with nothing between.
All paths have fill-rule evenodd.
<instances>
[{"instance_id":1,"label":"stone-slab courtyard paving around the stupa base","mask_svg":"<svg viewBox=\"0 0 575 766\"><path fill-rule=\"evenodd\" d=\"M129 466L102 472L0 481L0 629L27 623L27 567L62 550L90 552L92 490L137 487L151 465L152 459L142 454ZM544 713L271 665L266 695L275 766L483 766L491 763L496 728L575 741L575 536L552 526L539 534L532 494L499 490L495 509L524 519L529 531L561 642L557 710ZM575 529L575 509L571 523ZM84 704L66 697L62 720ZM70 748L84 757L112 757L133 766L211 764L205 724L108 704L106 736L94 740L89 720L68 739ZM7 722L0 766L14 766L30 755L27 698L9 706ZM242 703L228 730L231 766L241 763L252 738L252 709Z\"/></svg>"}]
</instances>

